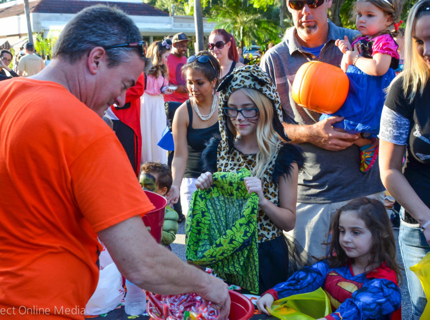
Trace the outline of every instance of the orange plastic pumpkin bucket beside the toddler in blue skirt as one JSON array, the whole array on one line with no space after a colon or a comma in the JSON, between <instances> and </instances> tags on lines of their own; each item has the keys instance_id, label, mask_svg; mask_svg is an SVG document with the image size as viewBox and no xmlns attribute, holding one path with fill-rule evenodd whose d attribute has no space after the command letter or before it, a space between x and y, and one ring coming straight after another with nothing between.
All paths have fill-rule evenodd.
<instances>
[{"instance_id":1,"label":"orange plastic pumpkin bucket beside the toddler in blue skirt","mask_svg":"<svg viewBox=\"0 0 430 320\"><path fill-rule=\"evenodd\" d=\"M345 102L349 79L339 67L320 61L303 64L295 75L291 94L301 107L333 114Z\"/></svg>"}]
</instances>

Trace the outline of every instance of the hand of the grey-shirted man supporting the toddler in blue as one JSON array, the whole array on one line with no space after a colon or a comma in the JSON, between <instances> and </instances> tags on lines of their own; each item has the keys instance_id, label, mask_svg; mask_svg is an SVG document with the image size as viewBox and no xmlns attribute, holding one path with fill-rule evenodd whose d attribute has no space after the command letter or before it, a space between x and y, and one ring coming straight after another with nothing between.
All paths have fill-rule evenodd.
<instances>
[{"instance_id":1,"label":"hand of the grey-shirted man supporting the toddler in blue","mask_svg":"<svg viewBox=\"0 0 430 320\"><path fill-rule=\"evenodd\" d=\"M340 132L333 129L332 124L342 121L343 117L333 116L311 125L310 143L332 151L350 147L359 138L356 134Z\"/></svg>"}]
</instances>

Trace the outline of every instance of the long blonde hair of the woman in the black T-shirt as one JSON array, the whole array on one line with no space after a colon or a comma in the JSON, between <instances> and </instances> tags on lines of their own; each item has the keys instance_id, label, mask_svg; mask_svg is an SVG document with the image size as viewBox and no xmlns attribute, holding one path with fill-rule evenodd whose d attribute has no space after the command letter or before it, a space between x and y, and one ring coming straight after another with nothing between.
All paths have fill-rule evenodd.
<instances>
[{"instance_id":1,"label":"long blonde hair of the woman in the black T-shirt","mask_svg":"<svg viewBox=\"0 0 430 320\"><path fill-rule=\"evenodd\" d=\"M421 0L413 5L407 16L406 28L404 31L403 72L397 77L403 77L403 92L407 95L406 98L409 102L412 102L418 90L420 94L423 93L425 84L428 81L428 66L425 64L422 57L419 56L414 43L415 41L412 38L412 35L415 34L416 21L423 16L430 15L430 10L421 10L427 7L430 8L430 0ZM391 82L391 84L393 82Z\"/></svg>"}]
</instances>

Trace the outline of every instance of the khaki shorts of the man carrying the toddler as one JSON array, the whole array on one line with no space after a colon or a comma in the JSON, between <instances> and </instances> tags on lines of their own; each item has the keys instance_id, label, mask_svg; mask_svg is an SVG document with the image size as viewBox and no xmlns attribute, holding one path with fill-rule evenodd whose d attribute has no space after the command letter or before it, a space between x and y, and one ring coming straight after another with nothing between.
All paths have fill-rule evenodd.
<instances>
[{"instance_id":1,"label":"khaki shorts of the man carrying the toddler","mask_svg":"<svg viewBox=\"0 0 430 320\"><path fill-rule=\"evenodd\" d=\"M369 198L379 199L382 203L384 192L368 195ZM353 200L353 199L351 199ZM296 225L293 230L285 232L298 241L304 250L314 257L326 256L326 246L331 218L338 208L351 200L332 203L301 203L296 205ZM302 248L297 248L299 252Z\"/></svg>"}]
</instances>

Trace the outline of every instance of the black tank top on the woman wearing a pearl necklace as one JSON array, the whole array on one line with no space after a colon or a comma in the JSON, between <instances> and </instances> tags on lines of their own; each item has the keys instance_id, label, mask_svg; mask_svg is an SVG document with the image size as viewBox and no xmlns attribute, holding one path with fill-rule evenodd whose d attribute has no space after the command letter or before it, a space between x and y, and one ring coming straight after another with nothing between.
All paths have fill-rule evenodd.
<instances>
[{"instance_id":1,"label":"black tank top on the woman wearing a pearl necklace","mask_svg":"<svg viewBox=\"0 0 430 320\"><path fill-rule=\"evenodd\" d=\"M184 177L198 178L202 174L202 164L200 161L202 152L206 148L206 142L215 134L219 134L219 124L216 122L208 128L194 129L193 110L190 100L187 100L187 110L190 121L187 127L188 160Z\"/></svg>"}]
</instances>

